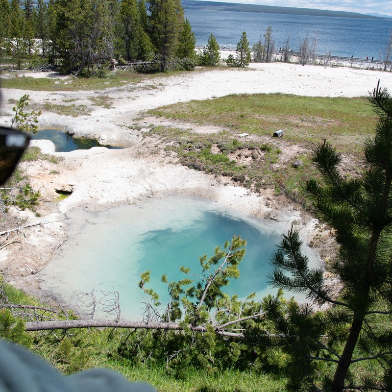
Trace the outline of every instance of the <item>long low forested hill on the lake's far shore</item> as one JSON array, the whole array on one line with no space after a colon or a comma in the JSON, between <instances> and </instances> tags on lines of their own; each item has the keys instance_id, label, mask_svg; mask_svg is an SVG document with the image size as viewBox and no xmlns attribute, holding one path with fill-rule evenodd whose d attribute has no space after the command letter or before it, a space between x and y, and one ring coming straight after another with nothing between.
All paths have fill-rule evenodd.
<instances>
[{"instance_id":1,"label":"long low forested hill on the lake's far shore","mask_svg":"<svg viewBox=\"0 0 392 392\"><path fill-rule=\"evenodd\" d=\"M379 16L359 14L356 12L330 11L312 8L276 7L273 5L256 5L228 3L219 1L182 0L185 9L210 9L217 11L265 12L270 14L338 16L343 18L384 19Z\"/></svg>"}]
</instances>

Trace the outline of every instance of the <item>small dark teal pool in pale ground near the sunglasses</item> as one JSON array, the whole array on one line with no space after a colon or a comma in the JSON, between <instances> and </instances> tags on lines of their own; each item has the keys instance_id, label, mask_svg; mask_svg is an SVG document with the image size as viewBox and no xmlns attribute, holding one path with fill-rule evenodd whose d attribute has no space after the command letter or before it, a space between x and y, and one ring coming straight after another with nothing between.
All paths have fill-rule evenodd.
<instances>
[{"instance_id":1,"label":"small dark teal pool in pale ground near the sunglasses","mask_svg":"<svg viewBox=\"0 0 392 392\"><path fill-rule=\"evenodd\" d=\"M35 135L32 135L35 140L50 140L56 147L57 152L70 152L73 150L88 150L92 147L106 147L117 149L122 147L103 146L98 143L97 139L77 139L62 132L60 129L42 129Z\"/></svg>"}]
</instances>

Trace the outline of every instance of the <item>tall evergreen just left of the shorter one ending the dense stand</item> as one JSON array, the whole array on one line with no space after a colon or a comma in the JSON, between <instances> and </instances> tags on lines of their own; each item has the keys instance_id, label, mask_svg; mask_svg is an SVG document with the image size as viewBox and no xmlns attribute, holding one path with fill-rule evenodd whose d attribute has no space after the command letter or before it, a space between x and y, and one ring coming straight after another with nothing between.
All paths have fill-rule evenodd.
<instances>
[{"instance_id":1,"label":"tall evergreen just left of the shorter one ending the dense stand","mask_svg":"<svg viewBox=\"0 0 392 392\"><path fill-rule=\"evenodd\" d=\"M149 36L163 72L176 52L184 25L184 10L181 0L151 0L149 11Z\"/></svg>"}]
</instances>

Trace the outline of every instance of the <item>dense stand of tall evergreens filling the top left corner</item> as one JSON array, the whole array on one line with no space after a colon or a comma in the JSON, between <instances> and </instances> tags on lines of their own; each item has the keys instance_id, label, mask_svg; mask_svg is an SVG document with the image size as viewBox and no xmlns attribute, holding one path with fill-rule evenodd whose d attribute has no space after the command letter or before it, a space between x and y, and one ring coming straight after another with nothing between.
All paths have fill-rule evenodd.
<instances>
[{"instance_id":1,"label":"dense stand of tall evergreens filling the top left corner","mask_svg":"<svg viewBox=\"0 0 392 392\"><path fill-rule=\"evenodd\" d=\"M18 68L26 60L74 75L99 74L115 61L147 62L149 71L194 67L195 37L180 0L1 0L0 18L0 55Z\"/></svg>"}]
</instances>

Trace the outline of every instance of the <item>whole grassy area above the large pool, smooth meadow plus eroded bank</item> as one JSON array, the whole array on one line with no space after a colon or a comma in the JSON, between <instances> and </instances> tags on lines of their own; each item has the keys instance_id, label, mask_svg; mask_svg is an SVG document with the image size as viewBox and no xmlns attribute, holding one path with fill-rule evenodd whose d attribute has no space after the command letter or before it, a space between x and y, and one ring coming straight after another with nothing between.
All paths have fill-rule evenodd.
<instances>
[{"instance_id":1,"label":"whole grassy area above the large pool, smooth meadow plus eroded bank","mask_svg":"<svg viewBox=\"0 0 392 392\"><path fill-rule=\"evenodd\" d=\"M190 131L156 127L167 150L175 151L180 162L204 172L230 176L256 192L272 187L302 202L301 185L318 173L309 157L297 156L303 165L283 162L282 151L271 136L284 129L284 141L311 149L327 139L355 159L362 156L364 140L373 135L377 121L366 98L315 98L284 94L230 95L205 101L181 102L150 110L149 114L226 129L217 135L196 135ZM252 143L237 140L249 133L271 140ZM268 137L268 139L266 139ZM271 138L271 139L270 139ZM211 147L216 145L215 153ZM283 148L283 147L282 147ZM251 157L251 159L249 158Z\"/></svg>"}]
</instances>

